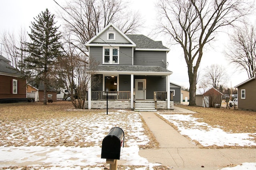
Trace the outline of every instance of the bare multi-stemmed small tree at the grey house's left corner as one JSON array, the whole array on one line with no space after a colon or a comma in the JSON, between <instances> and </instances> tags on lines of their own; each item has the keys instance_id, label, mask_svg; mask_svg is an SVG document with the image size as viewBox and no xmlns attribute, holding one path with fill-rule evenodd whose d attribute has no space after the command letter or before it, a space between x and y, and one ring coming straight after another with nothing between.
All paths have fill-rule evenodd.
<instances>
[{"instance_id":1,"label":"bare multi-stemmed small tree at the grey house's left corner","mask_svg":"<svg viewBox=\"0 0 256 170\"><path fill-rule=\"evenodd\" d=\"M64 37L66 37L65 55L58 58L56 65L59 87L64 86L68 89L68 95L76 109L84 109L89 82L94 80L90 74L96 69L98 63L92 60L88 62L88 57L70 43L72 41L70 34ZM93 82L97 84L98 79Z\"/></svg>"}]
</instances>

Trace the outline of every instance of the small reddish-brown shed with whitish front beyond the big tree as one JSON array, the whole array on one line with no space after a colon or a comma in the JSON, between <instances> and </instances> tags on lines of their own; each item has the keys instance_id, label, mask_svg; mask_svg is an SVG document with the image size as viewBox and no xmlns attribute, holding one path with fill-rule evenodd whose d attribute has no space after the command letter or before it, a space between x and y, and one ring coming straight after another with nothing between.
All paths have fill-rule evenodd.
<instances>
[{"instance_id":1,"label":"small reddish-brown shed with whitish front beyond the big tree","mask_svg":"<svg viewBox=\"0 0 256 170\"><path fill-rule=\"evenodd\" d=\"M220 107L223 94L216 88L211 88L202 95L196 95L196 106Z\"/></svg>"}]
</instances>

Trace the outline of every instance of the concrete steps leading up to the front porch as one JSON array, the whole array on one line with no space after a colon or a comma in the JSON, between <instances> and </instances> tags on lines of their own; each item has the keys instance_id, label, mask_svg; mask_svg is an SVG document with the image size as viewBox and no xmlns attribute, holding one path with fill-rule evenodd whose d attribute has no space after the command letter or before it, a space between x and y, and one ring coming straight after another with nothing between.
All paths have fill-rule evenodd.
<instances>
[{"instance_id":1,"label":"concrete steps leading up to the front porch","mask_svg":"<svg viewBox=\"0 0 256 170\"><path fill-rule=\"evenodd\" d=\"M134 111L157 111L153 100L136 100Z\"/></svg>"}]
</instances>

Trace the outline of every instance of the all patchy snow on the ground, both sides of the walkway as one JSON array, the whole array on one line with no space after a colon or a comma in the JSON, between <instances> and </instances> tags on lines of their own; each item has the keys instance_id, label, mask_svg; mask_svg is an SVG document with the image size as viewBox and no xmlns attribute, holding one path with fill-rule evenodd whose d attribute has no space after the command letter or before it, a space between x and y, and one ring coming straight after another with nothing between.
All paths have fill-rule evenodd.
<instances>
[{"instance_id":1,"label":"all patchy snow on the ground, both sides of the walkway","mask_svg":"<svg viewBox=\"0 0 256 170\"><path fill-rule=\"evenodd\" d=\"M124 114L126 114L124 116ZM203 146L210 145L239 145L250 146L256 145L251 141L249 133L226 133L218 127L211 127L206 123L198 122L197 118L192 115L164 114L158 113L171 123L178 127L182 135L188 135L192 140L198 141ZM42 120L40 120L42 121ZM17 121L5 125L0 122L0 135L4 136L2 147L0 147L0 170L17 169L23 170L103 170L106 159L101 159L101 142L104 136L112 127L124 127L126 132L124 142L126 146L122 148L120 160L124 160L124 165L139 165L136 170L152 170L152 164L146 158L139 156L138 145L145 145L149 139L144 135L143 123L140 114L120 110L115 113L98 113L96 115L84 117L71 117L66 119L50 119L50 122L41 122L34 120ZM14 133L4 128L14 129ZM56 132L54 129L61 131ZM39 133L40 135L34 135ZM63 133L64 131L64 133ZM60 135L66 134L66 140L75 140L74 136L79 137L78 141L89 141L93 143L90 147L74 146L45 146L44 143L53 143ZM82 134L82 136L81 136ZM7 143L13 141L13 143ZM36 143L35 145L26 146L22 142ZM18 144L15 147L15 143ZM3 145L5 144L5 145ZM12 166L12 167L11 167ZM14 166L17 166L16 168ZM2 168L1 168L2 167ZM5 167L5 168L4 168ZM10 168L8 168L10 167ZM223 168L222 170L256 170L256 163L243 163L232 168Z\"/></svg>"}]
</instances>

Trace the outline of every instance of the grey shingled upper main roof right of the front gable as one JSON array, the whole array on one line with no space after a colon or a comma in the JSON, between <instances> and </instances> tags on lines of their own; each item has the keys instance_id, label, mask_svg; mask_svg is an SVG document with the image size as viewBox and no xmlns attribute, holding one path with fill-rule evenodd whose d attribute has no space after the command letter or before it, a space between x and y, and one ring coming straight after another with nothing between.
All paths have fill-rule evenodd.
<instances>
[{"instance_id":1,"label":"grey shingled upper main roof right of the front gable","mask_svg":"<svg viewBox=\"0 0 256 170\"><path fill-rule=\"evenodd\" d=\"M167 47L162 45L161 41L154 41L145 35L128 34L126 36L136 44L136 48L138 49L166 49L166 51L169 51Z\"/></svg>"}]
</instances>

